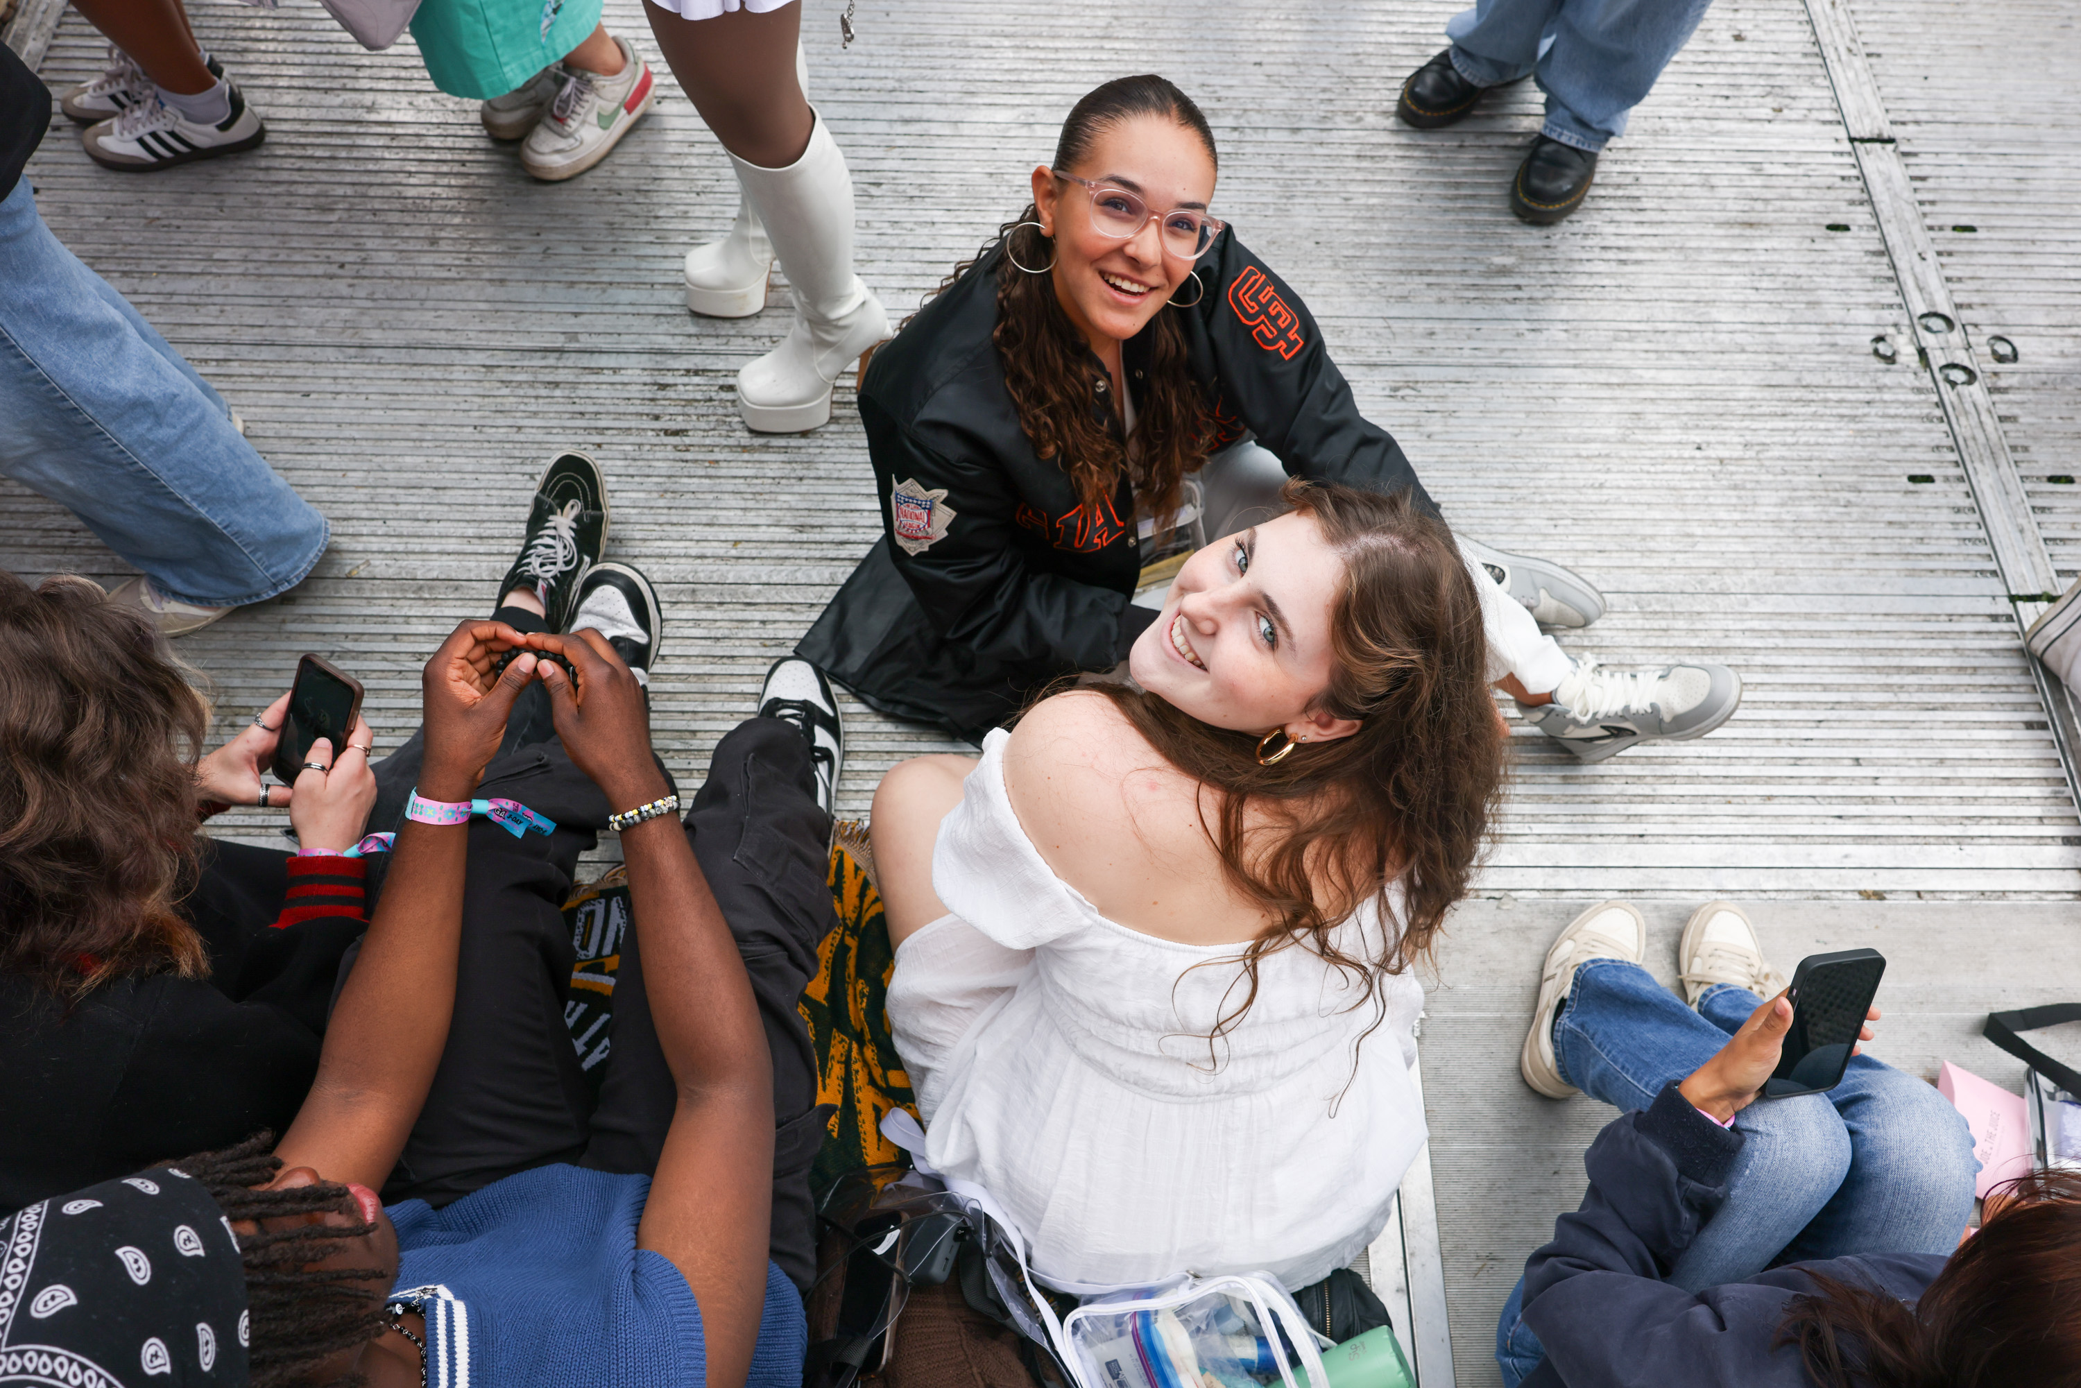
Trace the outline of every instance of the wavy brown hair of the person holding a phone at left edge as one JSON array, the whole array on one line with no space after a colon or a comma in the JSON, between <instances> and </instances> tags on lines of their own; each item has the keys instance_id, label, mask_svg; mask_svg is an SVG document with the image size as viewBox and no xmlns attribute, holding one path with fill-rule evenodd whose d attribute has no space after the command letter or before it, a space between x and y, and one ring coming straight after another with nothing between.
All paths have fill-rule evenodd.
<instances>
[{"instance_id":1,"label":"wavy brown hair of the person holding a phone at left edge","mask_svg":"<svg viewBox=\"0 0 2081 1388\"><path fill-rule=\"evenodd\" d=\"M208 972L175 909L208 722L142 614L85 579L0 572L0 972L60 993Z\"/></svg>"}]
</instances>

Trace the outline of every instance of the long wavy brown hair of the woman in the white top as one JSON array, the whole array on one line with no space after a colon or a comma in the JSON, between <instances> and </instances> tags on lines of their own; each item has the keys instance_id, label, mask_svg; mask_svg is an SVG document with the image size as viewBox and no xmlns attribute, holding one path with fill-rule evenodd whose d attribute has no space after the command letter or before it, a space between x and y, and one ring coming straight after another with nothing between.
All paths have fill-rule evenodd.
<instances>
[{"instance_id":1,"label":"long wavy brown hair of the woman in the white top","mask_svg":"<svg viewBox=\"0 0 2081 1388\"><path fill-rule=\"evenodd\" d=\"M1444 914L1467 895L1502 791L1482 599L1453 533L1407 493L1290 481L1284 502L1344 560L1330 603L1336 666L1311 708L1359 720L1357 732L1263 766L1253 732L1215 728L1140 689L1097 685L1165 762L1213 791L1213 816L1203 797L1201 822L1222 872L1271 922L1244 949L1242 997L1213 1036L1257 999L1259 959L1296 943L1361 974L1378 1001L1380 974L1425 957ZM1386 928L1378 959L1355 959L1332 939L1365 901Z\"/></svg>"}]
</instances>

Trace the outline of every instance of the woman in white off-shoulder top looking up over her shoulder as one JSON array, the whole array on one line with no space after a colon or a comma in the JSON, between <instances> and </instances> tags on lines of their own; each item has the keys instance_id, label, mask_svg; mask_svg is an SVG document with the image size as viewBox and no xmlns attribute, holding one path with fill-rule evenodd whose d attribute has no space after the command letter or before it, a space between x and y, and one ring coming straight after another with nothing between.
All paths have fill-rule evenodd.
<instances>
[{"instance_id":1,"label":"woman in white off-shoulder top looking up over her shoulder","mask_svg":"<svg viewBox=\"0 0 2081 1388\"><path fill-rule=\"evenodd\" d=\"M1411 963L1502 768L1480 597L1407 497L1286 502L1186 562L1138 689L1047 697L874 797L926 1157L1065 1290L1299 1290L1423 1145Z\"/></svg>"}]
</instances>

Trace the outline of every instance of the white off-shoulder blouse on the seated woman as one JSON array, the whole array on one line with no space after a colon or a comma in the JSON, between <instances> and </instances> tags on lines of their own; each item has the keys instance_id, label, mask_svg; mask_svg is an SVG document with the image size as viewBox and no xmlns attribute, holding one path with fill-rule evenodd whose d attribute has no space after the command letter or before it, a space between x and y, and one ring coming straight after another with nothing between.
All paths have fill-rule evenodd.
<instances>
[{"instance_id":1,"label":"white off-shoulder blouse on the seated woman","mask_svg":"<svg viewBox=\"0 0 2081 1388\"><path fill-rule=\"evenodd\" d=\"M903 941L889 984L926 1159L988 1190L1065 1290L1253 1269L1301 1288L1348 1265L1423 1147L1421 984L1382 974L1367 1001L1288 945L1209 1043L1247 988L1240 947L1099 916L1020 828L1005 743L988 735L939 830L951 914ZM1334 941L1378 959L1373 907Z\"/></svg>"}]
</instances>

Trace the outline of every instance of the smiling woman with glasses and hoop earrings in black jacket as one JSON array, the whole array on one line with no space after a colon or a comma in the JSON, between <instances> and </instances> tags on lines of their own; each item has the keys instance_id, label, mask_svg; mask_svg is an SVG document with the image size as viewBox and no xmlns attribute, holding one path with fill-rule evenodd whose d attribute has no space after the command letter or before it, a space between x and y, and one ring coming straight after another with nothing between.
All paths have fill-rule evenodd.
<instances>
[{"instance_id":1,"label":"smiling woman with glasses and hoop earrings in black jacket","mask_svg":"<svg viewBox=\"0 0 2081 1388\"><path fill-rule=\"evenodd\" d=\"M801 658L980 743L1053 680L1120 666L1155 620L1136 593L1159 601L1194 547L1278 514L1290 477L1438 514L1301 295L1213 212L1217 166L1207 117L1163 77L1070 110L1026 210L862 375L882 541ZM1596 589L1465 558L1490 670L1544 701L1527 691L1575 664L1538 622L1588 624Z\"/></svg>"}]
</instances>

